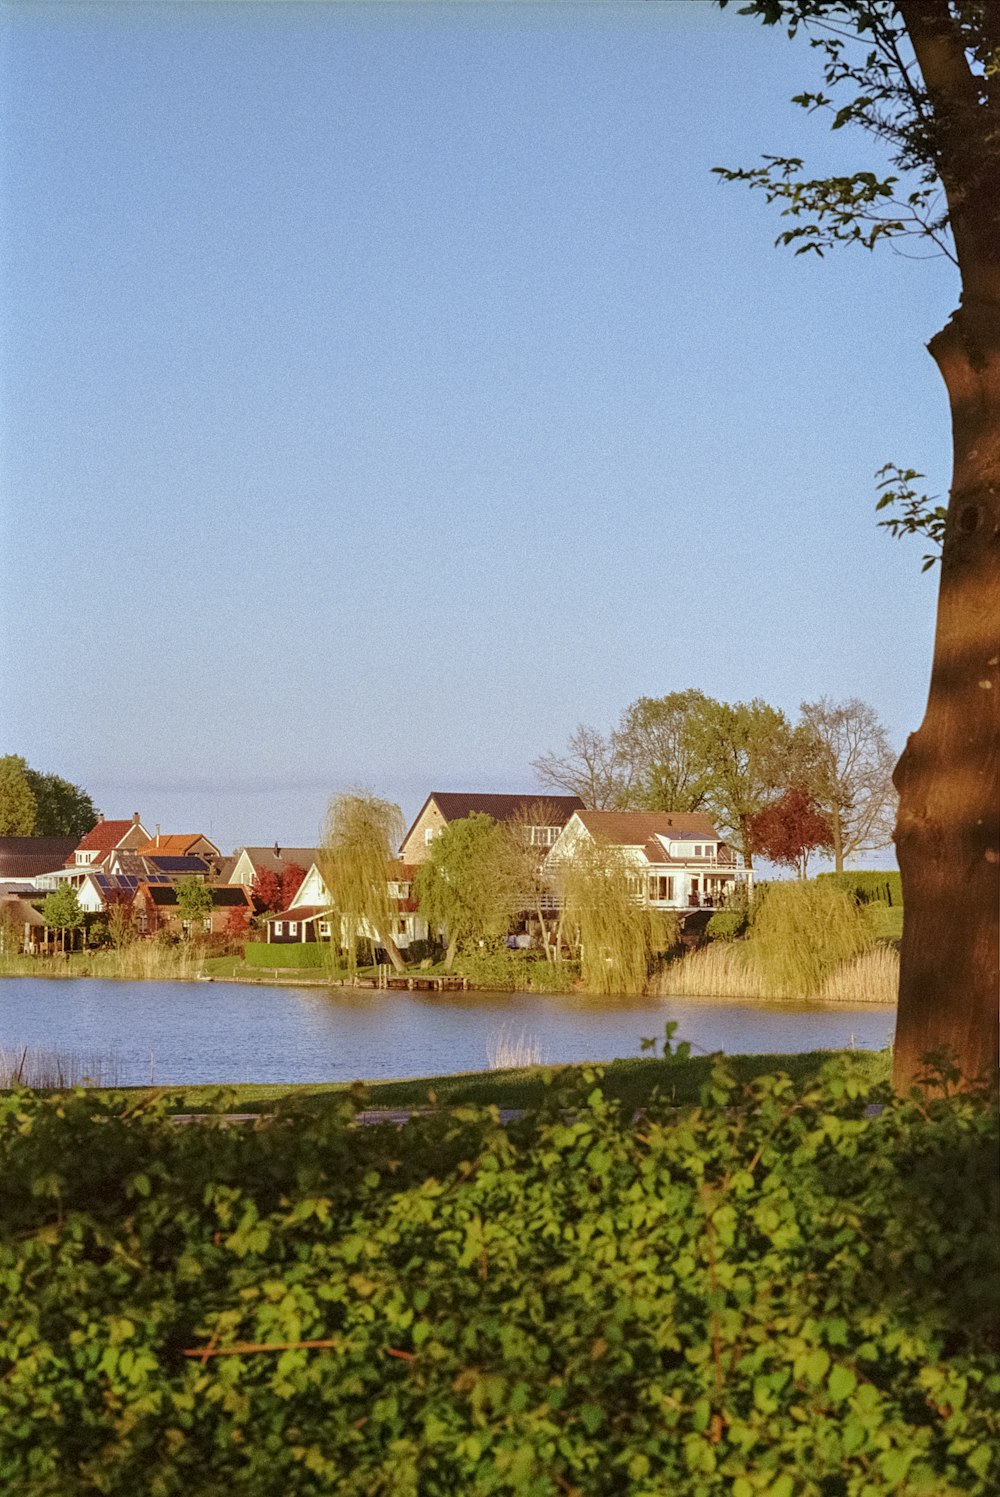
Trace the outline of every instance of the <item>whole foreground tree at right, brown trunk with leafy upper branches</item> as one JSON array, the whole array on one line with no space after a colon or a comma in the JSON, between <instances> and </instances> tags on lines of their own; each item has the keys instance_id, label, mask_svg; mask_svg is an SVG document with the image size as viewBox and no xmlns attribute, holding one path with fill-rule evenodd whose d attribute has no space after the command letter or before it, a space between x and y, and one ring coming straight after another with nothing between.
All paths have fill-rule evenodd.
<instances>
[{"instance_id":1,"label":"whole foreground tree at right, brown trunk with leafy upper branches","mask_svg":"<svg viewBox=\"0 0 1000 1497\"><path fill-rule=\"evenodd\" d=\"M728 0L720 0L725 6ZM1000 1045L1000 6L994 0L744 0L743 13L819 51L823 88L796 102L856 126L885 177L808 178L795 157L725 168L787 220L778 243L823 254L918 237L958 269L958 307L930 341L952 418L927 711L895 769L906 919L894 1079L948 1048L969 1079Z\"/></svg>"}]
</instances>

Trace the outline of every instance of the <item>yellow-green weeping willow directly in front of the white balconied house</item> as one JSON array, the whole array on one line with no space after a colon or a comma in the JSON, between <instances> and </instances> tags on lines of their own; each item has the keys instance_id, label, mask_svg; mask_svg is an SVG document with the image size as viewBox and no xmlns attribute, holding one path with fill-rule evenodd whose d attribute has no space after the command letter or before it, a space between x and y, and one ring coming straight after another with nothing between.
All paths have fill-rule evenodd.
<instances>
[{"instance_id":1,"label":"yellow-green weeping willow directly in front of the white balconied house","mask_svg":"<svg viewBox=\"0 0 1000 1497\"><path fill-rule=\"evenodd\" d=\"M654 958L677 943L677 918L647 909L621 849L596 838L575 846L558 883L588 993L644 993Z\"/></svg>"}]
</instances>

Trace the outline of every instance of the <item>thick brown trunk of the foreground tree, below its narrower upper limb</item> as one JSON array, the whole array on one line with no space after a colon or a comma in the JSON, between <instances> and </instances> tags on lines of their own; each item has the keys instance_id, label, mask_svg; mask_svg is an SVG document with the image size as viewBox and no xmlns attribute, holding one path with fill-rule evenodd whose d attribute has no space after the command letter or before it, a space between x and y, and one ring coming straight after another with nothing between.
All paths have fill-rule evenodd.
<instances>
[{"instance_id":1,"label":"thick brown trunk of the foreground tree, below its narrower upper limb","mask_svg":"<svg viewBox=\"0 0 1000 1497\"><path fill-rule=\"evenodd\" d=\"M966 295L930 344L952 410L934 662L894 780L903 874L894 1085L948 1049L996 1078L1000 949L1000 302Z\"/></svg>"}]
</instances>

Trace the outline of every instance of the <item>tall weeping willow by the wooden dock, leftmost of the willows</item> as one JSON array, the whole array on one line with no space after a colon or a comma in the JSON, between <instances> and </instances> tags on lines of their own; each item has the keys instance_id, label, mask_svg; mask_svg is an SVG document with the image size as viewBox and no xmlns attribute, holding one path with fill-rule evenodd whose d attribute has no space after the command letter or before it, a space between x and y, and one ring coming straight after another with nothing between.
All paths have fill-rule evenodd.
<instances>
[{"instance_id":1,"label":"tall weeping willow by the wooden dock, leftmost of the willows","mask_svg":"<svg viewBox=\"0 0 1000 1497\"><path fill-rule=\"evenodd\" d=\"M398 903L389 892L395 849L404 832L400 807L370 790L350 790L329 802L319 871L340 916L350 967L356 963L358 940L368 939L382 946L397 972L406 970L394 939Z\"/></svg>"}]
</instances>

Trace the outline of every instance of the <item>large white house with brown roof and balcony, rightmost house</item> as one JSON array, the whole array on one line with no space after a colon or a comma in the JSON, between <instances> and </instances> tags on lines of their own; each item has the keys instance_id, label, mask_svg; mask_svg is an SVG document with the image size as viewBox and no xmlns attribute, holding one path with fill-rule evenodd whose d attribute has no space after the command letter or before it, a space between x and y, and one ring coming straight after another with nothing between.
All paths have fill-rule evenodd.
<instances>
[{"instance_id":1,"label":"large white house with brown roof and balcony, rightmost house","mask_svg":"<svg viewBox=\"0 0 1000 1497\"><path fill-rule=\"evenodd\" d=\"M546 858L554 882L582 841L621 849L651 909L719 909L753 873L701 811L573 811Z\"/></svg>"}]
</instances>

